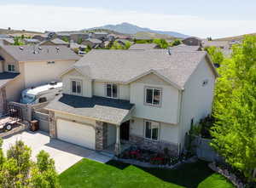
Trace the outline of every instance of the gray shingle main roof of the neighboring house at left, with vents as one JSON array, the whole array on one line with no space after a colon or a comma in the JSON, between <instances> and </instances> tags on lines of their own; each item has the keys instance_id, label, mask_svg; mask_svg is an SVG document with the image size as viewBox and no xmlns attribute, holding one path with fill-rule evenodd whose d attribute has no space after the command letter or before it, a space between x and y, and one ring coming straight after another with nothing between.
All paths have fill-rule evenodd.
<instances>
[{"instance_id":1,"label":"gray shingle main roof of the neighboring house at left, with vents","mask_svg":"<svg viewBox=\"0 0 256 188\"><path fill-rule=\"evenodd\" d=\"M38 61L38 60L79 60L79 55L66 46L1 46L8 54L18 61ZM57 50L59 48L59 50ZM36 53L34 52L36 49Z\"/></svg>"}]
</instances>

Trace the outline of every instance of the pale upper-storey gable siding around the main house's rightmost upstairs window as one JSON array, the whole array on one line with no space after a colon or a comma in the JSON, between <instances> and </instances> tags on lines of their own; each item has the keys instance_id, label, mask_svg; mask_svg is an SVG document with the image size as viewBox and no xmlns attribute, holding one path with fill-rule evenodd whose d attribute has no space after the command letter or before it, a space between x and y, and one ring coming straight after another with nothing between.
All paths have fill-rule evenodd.
<instances>
[{"instance_id":1,"label":"pale upper-storey gable siding around the main house's rightmost upstairs window","mask_svg":"<svg viewBox=\"0 0 256 188\"><path fill-rule=\"evenodd\" d=\"M161 102L160 106L151 106L144 104L145 87L160 88ZM158 122L168 122L177 124L178 122L178 100L179 93L177 88L161 80L159 77L143 77L137 82L131 83L131 100L135 104L133 116L145 119L152 119Z\"/></svg>"}]
</instances>

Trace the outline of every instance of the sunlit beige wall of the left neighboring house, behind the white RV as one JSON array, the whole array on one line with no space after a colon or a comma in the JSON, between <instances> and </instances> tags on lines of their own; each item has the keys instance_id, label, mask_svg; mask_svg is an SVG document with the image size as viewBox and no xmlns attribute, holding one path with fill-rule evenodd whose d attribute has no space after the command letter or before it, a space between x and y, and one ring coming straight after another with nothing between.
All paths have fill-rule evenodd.
<instances>
[{"instance_id":1,"label":"sunlit beige wall of the left neighboring house, behind the white RV","mask_svg":"<svg viewBox=\"0 0 256 188\"><path fill-rule=\"evenodd\" d=\"M56 60L54 64L48 64L47 61L25 62L25 87L30 88L51 81L60 81L58 76L74 62L74 60Z\"/></svg>"}]
</instances>

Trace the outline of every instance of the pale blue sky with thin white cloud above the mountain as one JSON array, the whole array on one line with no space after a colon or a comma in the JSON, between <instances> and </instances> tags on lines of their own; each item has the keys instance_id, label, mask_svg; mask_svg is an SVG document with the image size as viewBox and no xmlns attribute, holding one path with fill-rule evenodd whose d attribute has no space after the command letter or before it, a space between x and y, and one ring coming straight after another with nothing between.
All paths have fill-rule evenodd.
<instances>
[{"instance_id":1,"label":"pale blue sky with thin white cloud above the mountain","mask_svg":"<svg viewBox=\"0 0 256 188\"><path fill-rule=\"evenodd\" d=\"M130 22L198 37L256 32L253 0L9 0L0 9L0 28L62 31Z\"/></svg>"}]
</instances>

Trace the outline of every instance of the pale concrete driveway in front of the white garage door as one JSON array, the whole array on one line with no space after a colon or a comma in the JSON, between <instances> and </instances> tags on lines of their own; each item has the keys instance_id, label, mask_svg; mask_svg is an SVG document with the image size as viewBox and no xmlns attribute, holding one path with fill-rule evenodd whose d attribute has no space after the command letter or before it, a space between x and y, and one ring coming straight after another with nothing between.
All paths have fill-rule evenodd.
<instances>
[{"instance_id":1,"label":"pale concrete driveway in front of the white garage door","mask_svg":"<svg viewBox=\"0 0 256 188\"><path fill-rule=\"evenodd\" d=\"M6 152L9 149L9 145L15 144L16 140L22 140L31 147L32 160L36 159L39 151L47 151L50 157L55 160L55 168L59 174L79 162L82 158L89 158L96 162L108 162L111 159L111 157L103 156L96 151L78 145L61 140L50 140L49 134L42 131L25 131L3 139L3 151Z\"/></svg>"}]
</instances>

